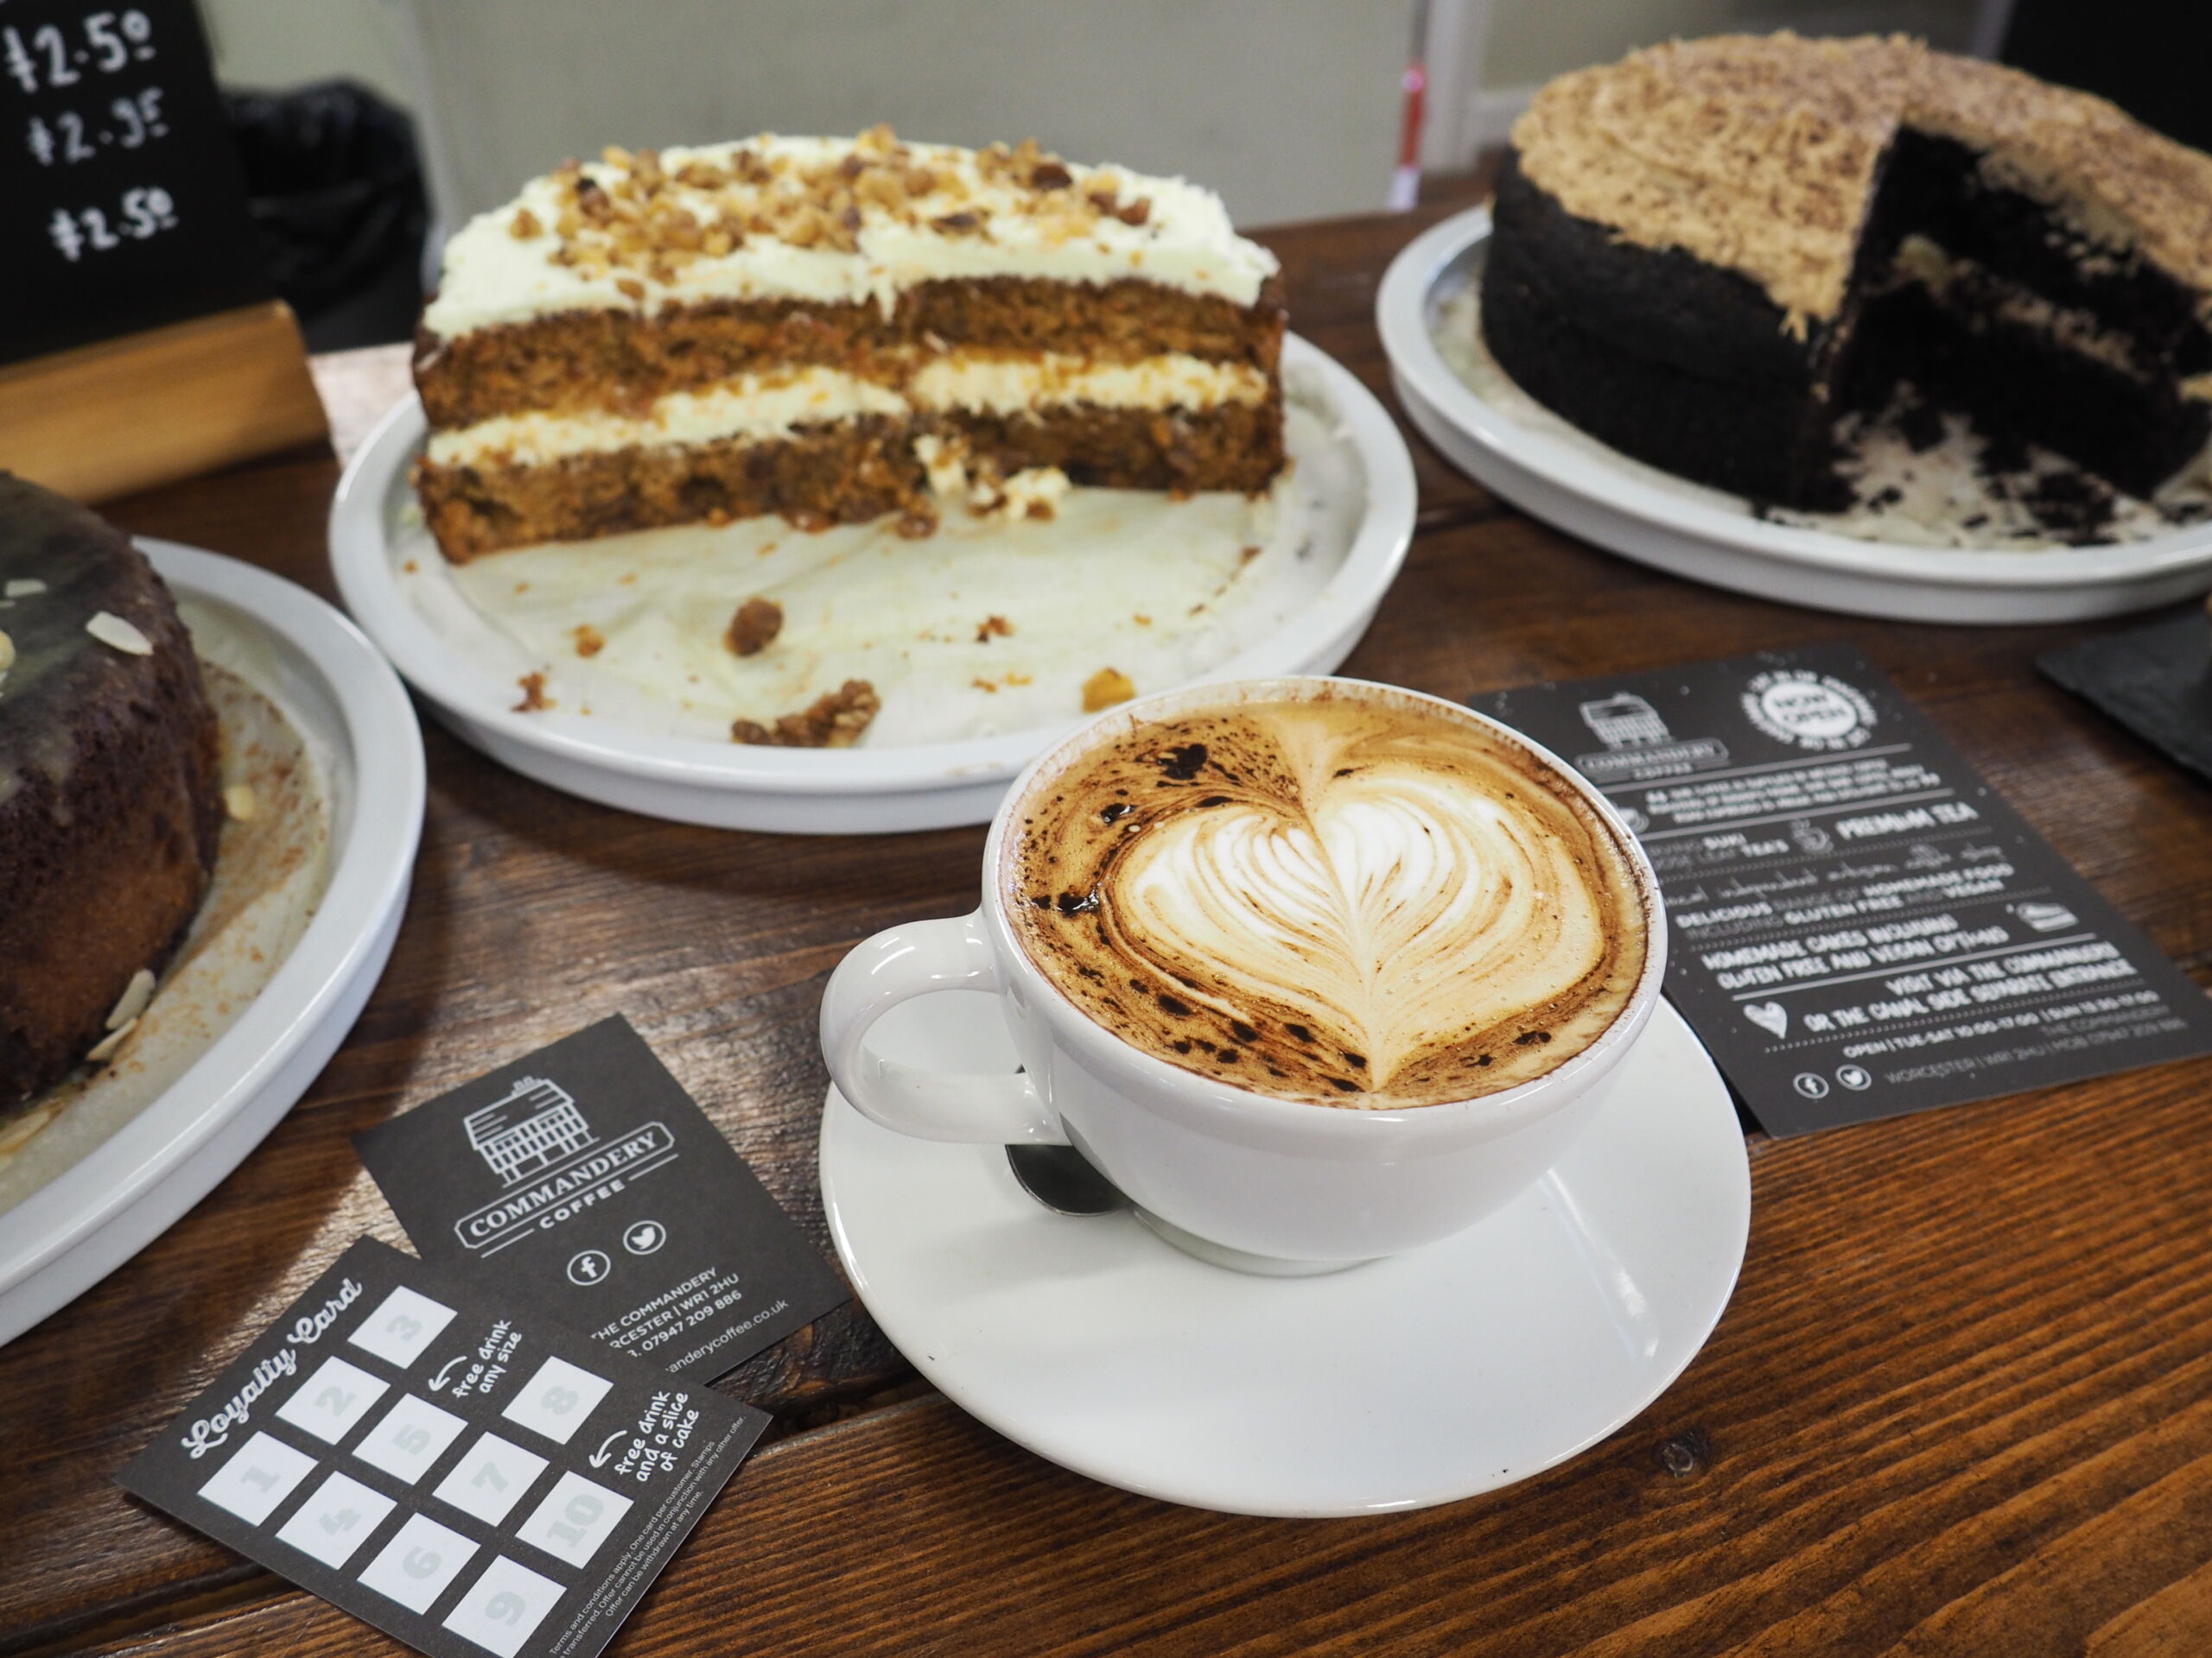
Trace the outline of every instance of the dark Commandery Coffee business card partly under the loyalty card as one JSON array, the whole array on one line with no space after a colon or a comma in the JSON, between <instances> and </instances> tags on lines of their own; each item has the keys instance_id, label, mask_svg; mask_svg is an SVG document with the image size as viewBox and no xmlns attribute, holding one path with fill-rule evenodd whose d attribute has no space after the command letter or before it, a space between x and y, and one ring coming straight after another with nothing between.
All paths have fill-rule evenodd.
<instances>
[{"instance_id":1,"label":"dark Commandery Coffee business card partly under the loyalty card","mask_svg":"<svg viewBox=\"0 0 2212 1658\"><path fill-rule=\"evenodd\" d=\"M422 1260L712 1382L847 1298L628 1019L354 1136Z\"/></svg>"}]
</instances>

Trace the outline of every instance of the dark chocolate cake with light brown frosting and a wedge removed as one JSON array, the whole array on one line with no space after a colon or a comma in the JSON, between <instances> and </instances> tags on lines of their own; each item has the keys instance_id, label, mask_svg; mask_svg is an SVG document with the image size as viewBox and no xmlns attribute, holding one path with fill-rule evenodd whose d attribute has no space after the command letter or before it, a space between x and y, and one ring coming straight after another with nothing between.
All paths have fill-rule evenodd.
<instances>
[{"instance_id":1,"label":"dark chocolate cake with light brown frosting and a wedge removed","mask_svg":"<svg viewBox=\"0 0 2212 1658\"><path fill-rule=\"evenodd\" d=\"M1540 402L1761 502L1849 504L1900 389L2154 493L2212 433L2212 157L1902 38L1721 35L1544 86L1482 334Z\"/></svg>"}]
</instances>

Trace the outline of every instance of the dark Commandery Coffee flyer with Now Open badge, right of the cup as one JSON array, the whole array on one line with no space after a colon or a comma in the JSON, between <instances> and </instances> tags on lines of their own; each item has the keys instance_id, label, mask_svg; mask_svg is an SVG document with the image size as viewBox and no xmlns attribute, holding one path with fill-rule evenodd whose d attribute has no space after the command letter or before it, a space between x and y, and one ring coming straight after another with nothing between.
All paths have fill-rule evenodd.
<instances>
[{"instance_id":1,"label":"dark Commandery Coffee flyer with Now Open badge, right of the cup","mask_svg":"<svg viewBox=\"0 0 2212 1658\"><path fill-rule=\"evenodd\" d=\"M2212 1004L1849 646L1473 705L1644 842L1668 999L1770 1134L2212 1050Z\"/></svg>"}]
</instances>

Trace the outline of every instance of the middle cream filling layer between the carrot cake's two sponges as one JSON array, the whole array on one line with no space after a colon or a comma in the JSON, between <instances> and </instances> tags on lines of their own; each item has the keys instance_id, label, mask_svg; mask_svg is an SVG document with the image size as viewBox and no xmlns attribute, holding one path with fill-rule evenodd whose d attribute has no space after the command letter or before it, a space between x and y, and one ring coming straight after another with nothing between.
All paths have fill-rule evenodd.
<instances>
[{"instance_id":1,"label":"middle cream filling layer between the carrot cake's two sponges","mask_svg":"<svg viewBox=\"0 0 2212 1658\"><path fill-rule=\"evenodd\" d=\"M916 411L971 409L1018 413L1088 402L1104 409L1214 409L1263 402L1267 376L1250 363L1206 363L1181 351L1137 363L1091 363L1044 354L1004 358L953 351L933 358L905 387L843 369L799 367L741 374L703 391L670 391L644 413L515 413L436 431L427 455L438 466L484 460L538 466L562 455L721 440L774 442L799 427L863 416L907 418Z\"/></svg>"}]
</instances>

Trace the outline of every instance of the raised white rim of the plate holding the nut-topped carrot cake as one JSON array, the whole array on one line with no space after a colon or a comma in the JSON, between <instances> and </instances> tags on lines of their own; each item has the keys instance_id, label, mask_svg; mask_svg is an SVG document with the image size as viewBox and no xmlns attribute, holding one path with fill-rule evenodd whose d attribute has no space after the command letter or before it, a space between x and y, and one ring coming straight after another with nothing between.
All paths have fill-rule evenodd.
<instances>
[{"instance_id":1,"label":"raised white rim of the plate holding the nut-topped carrot cake","mask_svg":"<svg viewBox=\"0 0 2212 1658\"><path fill-rule=\"evenodd\" d=\"M1283 340L1283 376L1316 400L1332 453L1345 458L1365 497L1347 513L1345 544L1332 548L1340 562L1321 590L1206 679L1332 672L1367 632L1413 539L1413 460L1383 405L1298 336ZM949 743L776 749L518 712L515 679L451 648L400 588L405 559L438 557L420 522L407 522L407 469L425 436L422 405L409 396L354 453L330 506L332 575L361 628L462 741L555 789L726 829L940 829L989 822L1013 776L1086 718Z\"/></svg>"}]
</instances>

